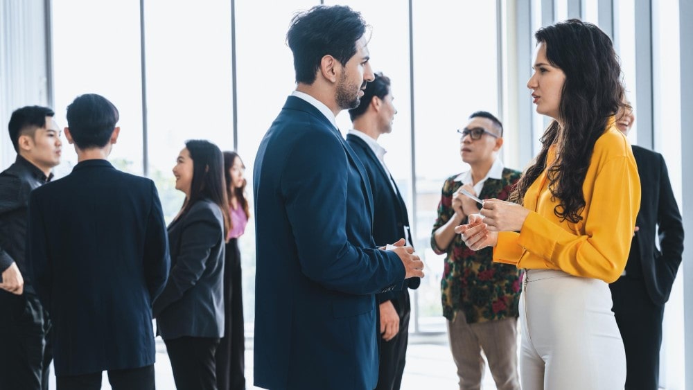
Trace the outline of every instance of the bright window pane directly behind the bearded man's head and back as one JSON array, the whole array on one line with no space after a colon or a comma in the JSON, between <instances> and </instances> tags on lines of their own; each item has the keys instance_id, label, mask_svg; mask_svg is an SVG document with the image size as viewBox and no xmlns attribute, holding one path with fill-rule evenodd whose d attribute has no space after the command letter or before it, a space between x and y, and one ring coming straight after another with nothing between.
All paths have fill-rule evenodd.
<instances>
[{"instance_id":1,"label":"bright window pane directly behind the bearded man's head and back","mask_svg":"<svg viewBox=\"0 0 693 390\"><path fill-rule=\"evenodd\" d=\"M286 31L297 10L317 1L267 3L236 1L236 69L238 96L238 153L245 163L247 195L252 202L253 163L258 145L279 114L286 97L296 88L293 57ZM251 204L252 210L252 204ZM255 320L255 221L251 215L245 235L238 240L243 266L245 321ZM252 329L252 326L246 326Z\"/></svg>"}]
</instances>

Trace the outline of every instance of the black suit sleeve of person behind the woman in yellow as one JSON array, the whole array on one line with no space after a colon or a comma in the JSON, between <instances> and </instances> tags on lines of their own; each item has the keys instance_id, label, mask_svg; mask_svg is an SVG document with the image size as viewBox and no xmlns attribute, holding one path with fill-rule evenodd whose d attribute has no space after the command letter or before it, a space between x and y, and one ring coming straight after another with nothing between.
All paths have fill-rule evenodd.
<instances>
[{"instance_id":1,"label":"black suit sleeve of person behind the woman in yellow","mask_svg":"<svg viewBox=\"0 0 693 390\"><path fill-rule=\"evenodd\" d=\"M669 181L667 163L661 154L658 157L660 159L660 183L658 186L660 193L657 224L662 256L656 260L665 262L667 269L671 272L671 283L674 283L683 254L683 222L674 197L674 190L672 190L672 183ZM672 287L671 283L666 286L669 290Z\"/></svg>"}]
</instances>

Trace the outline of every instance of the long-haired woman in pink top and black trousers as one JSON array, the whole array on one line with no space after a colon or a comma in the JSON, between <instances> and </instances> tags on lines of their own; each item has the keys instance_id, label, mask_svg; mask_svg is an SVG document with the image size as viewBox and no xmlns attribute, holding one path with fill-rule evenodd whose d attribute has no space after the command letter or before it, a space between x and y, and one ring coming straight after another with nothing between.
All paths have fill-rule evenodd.
<instances>
[{"instance_id":1,"label":"long-haired woman in pink top and black trousers","mask_svg":"<svg viewBox=\"0 0 693 390\"><path fill-rule=\"evenodd\" d=\"M243 288L240 272L238 238L243 236L250 218L245 197L245 165L236 152L224 152L227 212L231 229L227 236L224 268L225 334L216 351L219 390L245 389L245 335L243 321Z\"/></svg>"}]
</instances>

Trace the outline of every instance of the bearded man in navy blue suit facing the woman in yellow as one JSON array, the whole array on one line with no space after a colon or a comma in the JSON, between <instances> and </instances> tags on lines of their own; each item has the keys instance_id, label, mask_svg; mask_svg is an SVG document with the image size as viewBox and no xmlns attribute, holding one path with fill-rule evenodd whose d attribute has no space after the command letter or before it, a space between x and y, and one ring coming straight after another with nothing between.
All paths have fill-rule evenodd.
<instances>
[{"instance_id":1,"label":"bearded man in navy blue suit facing the woman in yellow","mask_svg":"<svg viewBox=\"0 0 693 390\"><path fill-rule=\"evenodd\" d=\"M373 389L375 295L423 276L412 247L371 237L368 177L335 116L373 80L366 24L345 6L292 19L297 89L267 130L254 166L255 385Z\"/></svg>"}]
</instances>

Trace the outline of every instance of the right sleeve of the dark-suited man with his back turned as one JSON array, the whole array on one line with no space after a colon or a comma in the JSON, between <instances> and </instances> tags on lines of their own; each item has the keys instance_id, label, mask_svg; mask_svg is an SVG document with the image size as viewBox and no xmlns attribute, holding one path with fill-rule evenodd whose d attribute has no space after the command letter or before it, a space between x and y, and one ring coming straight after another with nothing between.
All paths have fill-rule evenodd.
<instances>
[{"instance_id":1,"label":"right sleeve of the dark-suited man with his back turned","mask_svg":"<svg viewBox=\"0 0 693 390\"><path fill-rule=\"evenodd\" d=\"M153 181L150 181L150 186L152 187L152 204L147 220L143 265L149 295L154 301L166 285L170 256L166 222L164 222L164 211L161 210L159 193Z\"/></svg>"}]
</instances>

